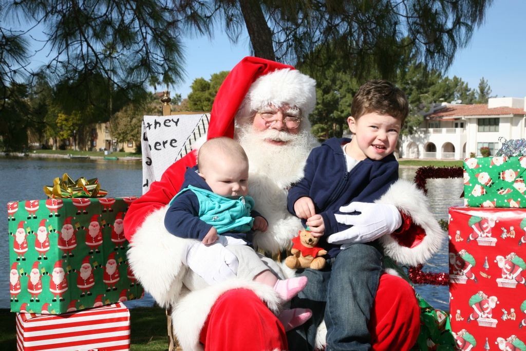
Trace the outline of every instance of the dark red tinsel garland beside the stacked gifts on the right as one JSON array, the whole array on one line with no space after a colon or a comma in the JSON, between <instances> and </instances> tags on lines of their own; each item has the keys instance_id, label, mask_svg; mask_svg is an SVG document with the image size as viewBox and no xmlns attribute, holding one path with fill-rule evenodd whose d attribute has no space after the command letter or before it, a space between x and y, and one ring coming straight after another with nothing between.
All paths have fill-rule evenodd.
<instances>
[{"instance_id":1,"label":"dark red tinsel garland beside the stacked gifts on the right","mask_svg":"<svg viewBox=\"0 0 526 351\"><path fill-rule=\"evenodd\" d=\"M427 180L438 178L462 178L462 167L420 167L414 175L414 183L419 189L422 189L427 194L426 183ZM408 270L409 279L414 284L430 284L430 285L448 285L448 273L429 273L422 271L422 265L417 267L410 267Z\"/></svg>"}]
</instances>

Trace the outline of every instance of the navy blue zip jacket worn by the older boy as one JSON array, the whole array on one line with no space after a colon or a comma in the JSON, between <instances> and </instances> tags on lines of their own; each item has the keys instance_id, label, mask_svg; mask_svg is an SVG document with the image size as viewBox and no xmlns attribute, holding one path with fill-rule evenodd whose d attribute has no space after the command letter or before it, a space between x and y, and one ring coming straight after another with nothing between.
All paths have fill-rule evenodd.
<instances>
[{"instance_id":1,"label":"navy blue zip jacket worn by the older boy","mask_svg":"<svg viewBox=\"0 0 526 351\"><path fill-rule=\"evenodd\" d=\"M341 146L349 138L330 138L312 149L305 165L304 178L288 193L287 208L296 215L294 204L300 197L310 197L317 214L323 218L325 234L320 246L335 256L339 245L326 242L329 235L349 228L340 224L334 216L341 206L352 201L372 203L380 198L398 180L398 162L393 154L376 161L366 158L347 172L346 156ZM305 220L302 223L305 225Z\"/></svg>"}]
</instances>

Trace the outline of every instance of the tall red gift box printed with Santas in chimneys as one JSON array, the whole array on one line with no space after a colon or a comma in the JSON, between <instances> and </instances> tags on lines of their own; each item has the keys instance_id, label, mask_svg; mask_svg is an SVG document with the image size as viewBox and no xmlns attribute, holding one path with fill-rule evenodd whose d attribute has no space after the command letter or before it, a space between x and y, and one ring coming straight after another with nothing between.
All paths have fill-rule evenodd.
<instances>
[{"instance_id":1,"label":"tall red gift box printed with Santas in chimneys","mask_svg":"<svg viewBox=\"0 0 526 351\"><path fill-rule=\"evenodd\" d=\"M461 350L526 350L526 209L449 208L451 329Z\"/></svg>"}]
</instances>

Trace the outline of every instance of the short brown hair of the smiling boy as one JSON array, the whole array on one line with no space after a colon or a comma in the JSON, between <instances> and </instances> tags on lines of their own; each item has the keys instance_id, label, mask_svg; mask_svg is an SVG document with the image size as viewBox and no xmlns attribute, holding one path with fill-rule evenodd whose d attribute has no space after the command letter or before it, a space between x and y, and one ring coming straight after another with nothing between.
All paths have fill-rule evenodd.
<instances>
[{"instance_id":1,"label":"short brown hair of the smiling boy","mask_svg":"<svg viewBox=\"0 0 526 351\"><path fill-rule=\"evenodd\" d=\"M363 84L352 99L351 116L358 119L373 112L391 115L403 124L409 114L406 94L384 79L374 79Z\"/></svg>"}]
</instances>

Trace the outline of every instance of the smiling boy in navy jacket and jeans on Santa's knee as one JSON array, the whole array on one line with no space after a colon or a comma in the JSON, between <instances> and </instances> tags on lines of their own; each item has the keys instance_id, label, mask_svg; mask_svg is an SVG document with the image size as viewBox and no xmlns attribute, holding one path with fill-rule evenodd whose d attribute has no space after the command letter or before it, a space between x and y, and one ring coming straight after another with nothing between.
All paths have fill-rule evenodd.
<instances>
[{"instance_id":1,"label":"smiling boy in navy jacket and jeans on Santa's knee","mask_svg":"<svg viewBox=\"0 0 526 351\"><path fill-rule=\"evenodd\" d=\"M328 238L348 228L335 218L341 206L373 202L398 179L393 151L408 112L406 96L391 83L363 84L347 118L352 139L331 138L313 149L304 178L289 190L289 212L302 218L312 235L322 236L320 246L329 255L325 322L333 332L327 334L327 349L370 347L367 323L383 272L380 246L376 242L340 246ZM356 323L346 323L349 318Z\"/></svg>"}]
</instances>

